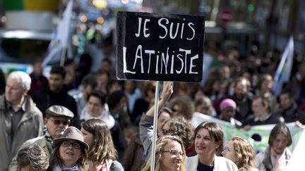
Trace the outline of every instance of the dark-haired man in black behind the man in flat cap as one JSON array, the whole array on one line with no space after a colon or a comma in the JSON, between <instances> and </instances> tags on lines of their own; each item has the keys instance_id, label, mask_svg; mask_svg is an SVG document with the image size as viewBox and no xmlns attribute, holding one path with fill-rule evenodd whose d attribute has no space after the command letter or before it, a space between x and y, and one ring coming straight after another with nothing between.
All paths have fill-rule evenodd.
<instances>
[{"instance_id":1,"label":"dark-haired man in black behind the man in flat cap","mask_svg":"<svg viewBox=\"0 0 305 171\"><path fill-rule=\"evenodd\" d=\"M32 93L32 99L35 101L40 111L42 111L44 117L44 112L53 105L65 106L71 110L72 113L77 114L76 101L72 96L67 94L67 89L64 87L65 76L66 69L64 67L53 66L48 80L49 86Z\"/></svg>"}]
</instances>

